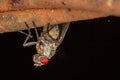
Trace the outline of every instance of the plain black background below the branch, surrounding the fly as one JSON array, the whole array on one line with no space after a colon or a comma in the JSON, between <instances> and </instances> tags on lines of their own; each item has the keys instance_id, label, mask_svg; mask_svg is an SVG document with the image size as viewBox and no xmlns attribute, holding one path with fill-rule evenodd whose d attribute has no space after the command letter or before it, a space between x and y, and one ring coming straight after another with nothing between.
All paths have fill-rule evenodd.
<instances>
[{"instance_id":1,"label":"plain black background below the branch, surrounding the fly","mask_svg":"<svg viewBox=\"0 0 120 80\"><path fill-rule=\"evenodd\" d=\"M119 27L120 18L112 16L72 22L57 54L41 68L33 66L35 46L22 46L26 36L18 32L0 34L0 77L15 80L112 78L119 72Z\"/></svg>"}]
</instances>

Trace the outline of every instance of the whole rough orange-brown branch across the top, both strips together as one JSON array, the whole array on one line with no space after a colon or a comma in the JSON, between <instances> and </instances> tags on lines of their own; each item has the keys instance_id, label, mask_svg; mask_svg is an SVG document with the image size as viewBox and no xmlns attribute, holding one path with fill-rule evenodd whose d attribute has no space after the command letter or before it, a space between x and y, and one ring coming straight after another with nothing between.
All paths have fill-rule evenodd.
<instances>
[{"instance_id":1,"label":"whole rough orange-brown branch across the top, both strips together","mask_svg":"<svg viewBox=\"0 0 120 80\"><path fill-rule=\"evenodd\" d=\"M0 0L0 33L109 15L120 16L120 0Z\"/></svg>"}]
</instances>

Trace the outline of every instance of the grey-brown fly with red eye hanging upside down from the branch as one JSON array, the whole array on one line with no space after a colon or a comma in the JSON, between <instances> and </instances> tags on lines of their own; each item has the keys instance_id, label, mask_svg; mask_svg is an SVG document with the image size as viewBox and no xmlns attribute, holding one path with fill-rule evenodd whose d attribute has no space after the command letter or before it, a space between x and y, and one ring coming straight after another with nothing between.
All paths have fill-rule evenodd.
<instances>
[{"instance_id":1,"label":"grey-brown fly with red eye hanging upside down from the branch","mask_svg":"<svg viewBox=\"0 0 120 80\"><path fill-rule=\"evenodd\" d=\"M41 32L40 36L38 34L35 22L33 21L32 23L37 41L28 42L28 40L32 38L33 35L31 34L28 24L25 22L25 25L28 28L28 34L23 31L19 31L22 34L27 35L23 43L23 47L36 45L37 54L33 55L34 66L37 67L47 65L50 62L50 59L56 54L56 49L63 41L70 23L55 25L48 24L47 26L43 27L43 31Z\"/></svg>"}]
</instances>

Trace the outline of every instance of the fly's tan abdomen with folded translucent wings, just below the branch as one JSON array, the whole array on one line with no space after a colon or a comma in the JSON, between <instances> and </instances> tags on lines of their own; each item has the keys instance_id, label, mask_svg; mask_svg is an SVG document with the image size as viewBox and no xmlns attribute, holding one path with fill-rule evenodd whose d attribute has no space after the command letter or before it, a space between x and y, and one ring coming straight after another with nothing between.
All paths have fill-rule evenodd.
<instances>
[{"instance_id":1,"label":"fly's tan abdomen with folded translucent wings, just below the branch","mask_svg":"<svg viewBox=\"0 0 120 80\"><path fill-rule=\"evenodd\" d=\"M46 39L59 46L66 35L69 25L70 23L64 23L44 27L44 32L47 32Z\"/></svg>"}]
</instances>

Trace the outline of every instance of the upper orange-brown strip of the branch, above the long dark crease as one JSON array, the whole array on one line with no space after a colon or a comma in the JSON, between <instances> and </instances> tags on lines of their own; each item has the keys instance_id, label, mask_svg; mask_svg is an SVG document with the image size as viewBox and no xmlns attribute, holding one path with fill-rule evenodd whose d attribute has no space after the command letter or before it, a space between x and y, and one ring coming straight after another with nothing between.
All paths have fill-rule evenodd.
<instances>
[{"instance_id":1,"label":"upper orange-brown strip of the branch, above the long dark crease","mask_svg":"<svg viewBox=\"0 0 120 80\"><path fill-rule=\"evenodd\" d=\"M0 11L71 8L120 15L120 0L0 0Z\"/></svg>"}]
</instances>

